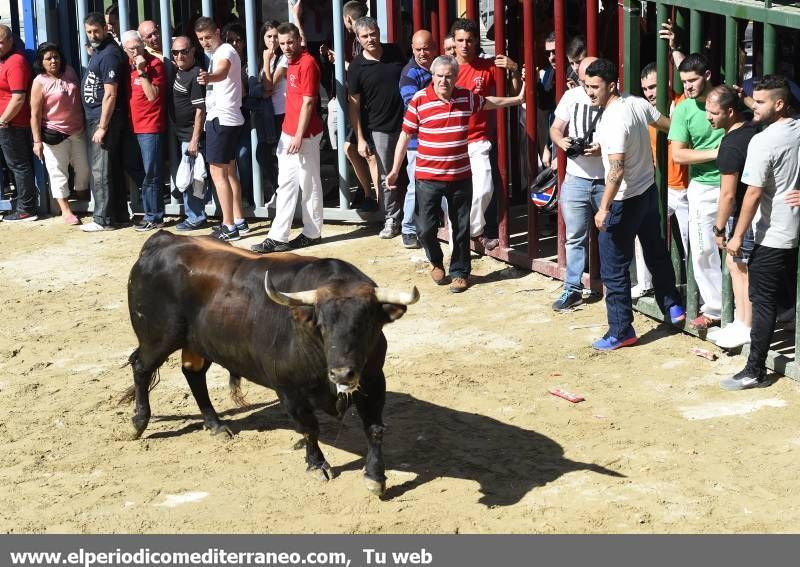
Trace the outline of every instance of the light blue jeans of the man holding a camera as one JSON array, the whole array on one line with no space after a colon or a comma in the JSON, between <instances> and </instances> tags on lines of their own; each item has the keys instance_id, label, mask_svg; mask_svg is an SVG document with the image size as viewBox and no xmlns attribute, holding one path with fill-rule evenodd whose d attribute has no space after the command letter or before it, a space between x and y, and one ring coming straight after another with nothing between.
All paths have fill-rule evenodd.
<instances>
[{"instance_id":1,"label":"light blue jeans of the man holding a camera","mask_svg":"<svg viewBox=\"0 0 800 567\"><path fill-rule=\"evenodd\" d=\"M567 253L567 273L564 291L583 289L583 269L589 249L589 230L594 226L594 215L600 208L605 191L605 179L584 179L567 175L558 196L561 214L564 217Z\"/></svg>"}]
</instances>

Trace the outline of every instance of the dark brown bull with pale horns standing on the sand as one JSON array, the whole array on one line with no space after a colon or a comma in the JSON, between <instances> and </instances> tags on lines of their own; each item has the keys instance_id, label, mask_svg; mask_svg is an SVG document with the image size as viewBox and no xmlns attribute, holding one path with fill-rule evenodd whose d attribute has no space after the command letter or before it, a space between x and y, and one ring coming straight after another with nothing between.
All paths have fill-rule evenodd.
<instances>
[{"instance_id":1,"label":"dark brown bull with pale horns standing on the sand","mask_svg":"<svg viewBox=\"0 0 800 567\"><path fill-rule=\"evenodd\" d=\"M341 419L355 404L367 438L365 481L386 488L382 419L386 395L383 326L419 299L416 287L378 287L352 264L295 254L257 254L210 237L159 231L142 247L128 279L128 309L138 347L129 361L134 438L150 420L158 369L181 350L182 371L206 429L231 435L208 395L212 362L275 390L297 424L308 471L333 477L320 450L315 410ZM302 442L301 442L302 444Z\"/></svg>"}]
</instances>

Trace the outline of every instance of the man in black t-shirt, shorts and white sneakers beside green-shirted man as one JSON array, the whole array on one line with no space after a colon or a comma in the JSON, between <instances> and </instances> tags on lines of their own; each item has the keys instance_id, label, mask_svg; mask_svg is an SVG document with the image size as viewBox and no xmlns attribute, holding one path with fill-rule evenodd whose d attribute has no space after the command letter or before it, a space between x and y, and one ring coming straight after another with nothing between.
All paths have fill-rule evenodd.
<instances>
[{"instance_id":1,"label":"man in black t-shirt, shorts and white sneakers beside green-shirted man","mask_svg":"<svg viewBox=\"0 0 800 567\"><path fill-rule=\"evenodd\" d=\"M747 122L740 111L739 94L727 85L714 87L706 98L706 114L714 128L725 131L719 145L717 167L721 175L719 208L714 223L717 246L725 250L725 242L733 236L734 227L742 207L747 185L741 182L747 158L747 147L758 132L758 124ZM753 231L744 233L742 247L737 256L728 254L725 264L731 274L733 299L736 304L733 322L716 333L709 332L708 339L722 348L736 348L750 342L752 320L748 297L747 263L753 251Z\"/></svg>"}]
</instances>

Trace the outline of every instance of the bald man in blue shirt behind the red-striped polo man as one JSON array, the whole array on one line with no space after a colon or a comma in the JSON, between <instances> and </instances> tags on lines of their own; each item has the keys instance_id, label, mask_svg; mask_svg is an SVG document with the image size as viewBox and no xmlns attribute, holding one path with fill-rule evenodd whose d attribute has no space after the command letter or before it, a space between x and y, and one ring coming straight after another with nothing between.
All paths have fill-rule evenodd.
<instances>
[{"instance_id":1,"label":"bald man in blue shirt behind the red-striped polo man","mask_svg":"<svg viewBox=\"0 0 800 567\"><path fill-rule=\"evenodd\" d=\"M408 103L417 91L427 87L431 82L431 63L435 56L433 36L428 30L419 30L411 38L411 50L414 56L408 61L400 74L400 96L403 104ZM408 159L408 191L403 203L403 223L400 232L405 248L419 248L417 228L414 225L414 164L417 160L417 138L411 138L406 153Z\"/></svg>"}]
</instances>

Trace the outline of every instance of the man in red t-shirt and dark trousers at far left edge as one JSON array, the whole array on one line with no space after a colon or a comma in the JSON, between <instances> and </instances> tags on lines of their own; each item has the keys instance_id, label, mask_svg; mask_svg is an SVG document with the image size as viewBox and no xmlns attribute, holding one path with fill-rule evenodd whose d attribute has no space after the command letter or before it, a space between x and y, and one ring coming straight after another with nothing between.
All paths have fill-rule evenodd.
<instances>
[{"instance_id":1,"label":"man in red t-shirt and dark trousers at far left edge","mask_svg":"<svg viewBox=\"0 0 800 567\"><path fill-rule=\"evenodd\" d=\"M37 219L38 199L33 184L33 144L31 143L31 107L28 91L31 68L25 57L14 49L14 36L8 26L0 25L0 150L17 186L17 210L6 222Z\"/></svg>"}]
</instances>

